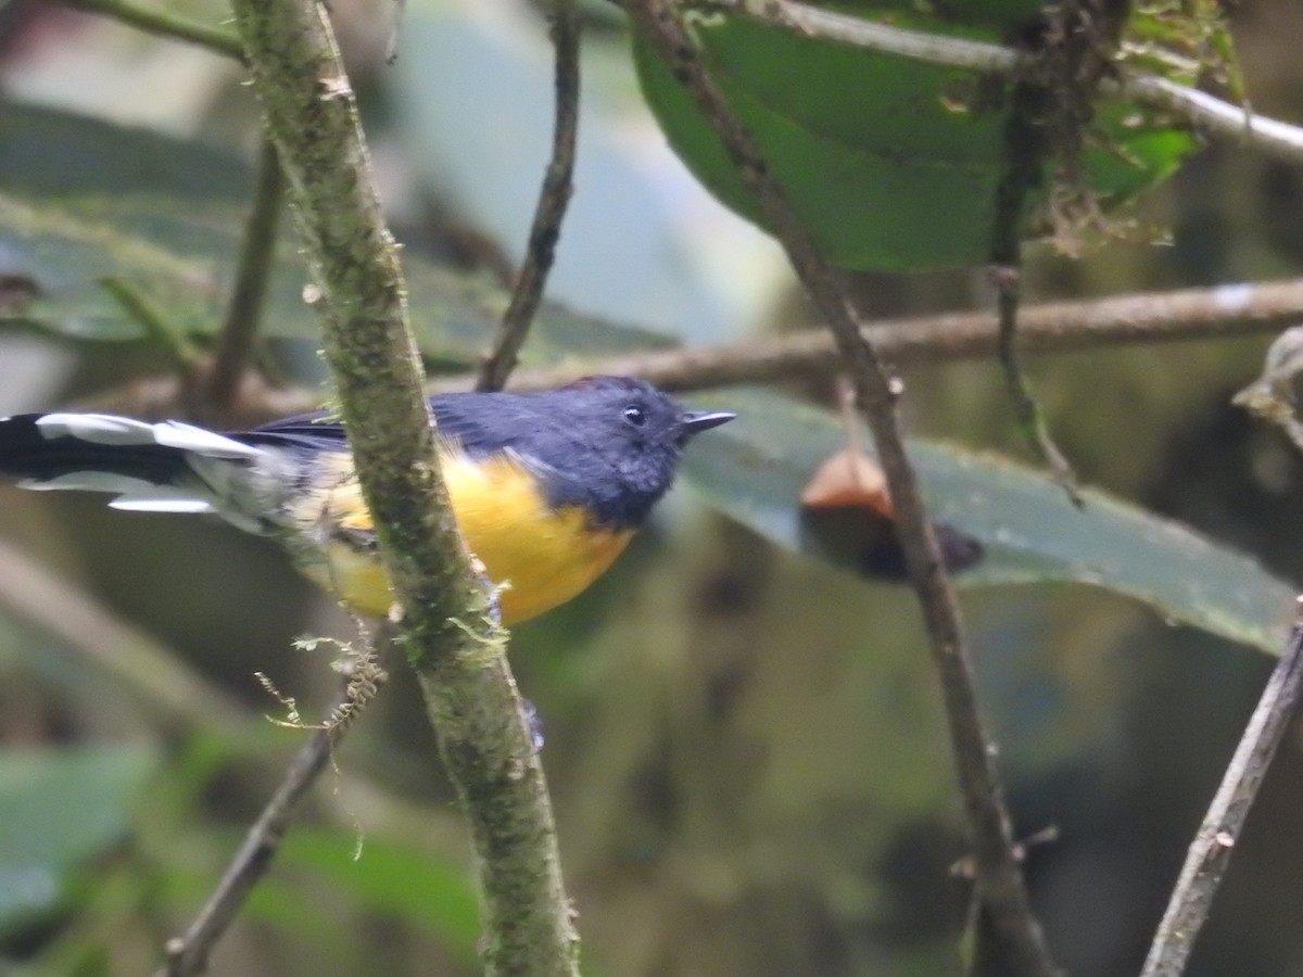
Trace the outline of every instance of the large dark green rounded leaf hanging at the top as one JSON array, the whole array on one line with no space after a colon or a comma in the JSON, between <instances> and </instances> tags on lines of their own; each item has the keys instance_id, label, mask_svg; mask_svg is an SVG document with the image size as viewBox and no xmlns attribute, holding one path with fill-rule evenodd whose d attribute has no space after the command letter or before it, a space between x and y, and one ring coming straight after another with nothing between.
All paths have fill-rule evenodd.
<instances>
[{"instance_id":1,"label":"large dark green rounded leaf hanging at the top","mask_svg":"<svg viewBox=\"0 0 1303 977\"><path fill-rule=\"evenodd\" d=\"M999 36L894 10L876 16L951 36ZM988 259L1007 82L739 14L697 17L692 29L713 77L834 264L919 271ZM724 203L762 224L691 94L640 36L635 57L644 94L679 155ZM1124 103L1102 102L1095 129L1085 163L1105 203L1166 176L1195 146L1187 133ZM1044 193L1037 208L1042 203ZM1042 227L1037 208L1024 214L1028 233Z\"/></svg>"}]
</instances>

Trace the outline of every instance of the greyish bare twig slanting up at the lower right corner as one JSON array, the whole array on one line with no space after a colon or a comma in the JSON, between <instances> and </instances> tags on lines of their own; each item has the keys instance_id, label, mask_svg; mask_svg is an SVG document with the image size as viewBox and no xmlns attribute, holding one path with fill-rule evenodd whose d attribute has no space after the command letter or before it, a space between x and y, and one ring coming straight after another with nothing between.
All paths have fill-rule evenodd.
<instances>
[{"instance_id":1,"label":"greyish bare twig slanting up at the lower right corner","mask_svg":"<svg viewBox=\"0 0 1303 977\"><path fill-rule=\"evenodd\" d=\"M1226 874L1235 843L1244 830L1257 788L1289 728L1303 690L1303 598L1295 603L1294 629L1248 719L1221 786L1204 815L1167 911L1158 924L1141 977L1179 977L1208 917L1213 895Z\"/></svg>"}]
</instances>

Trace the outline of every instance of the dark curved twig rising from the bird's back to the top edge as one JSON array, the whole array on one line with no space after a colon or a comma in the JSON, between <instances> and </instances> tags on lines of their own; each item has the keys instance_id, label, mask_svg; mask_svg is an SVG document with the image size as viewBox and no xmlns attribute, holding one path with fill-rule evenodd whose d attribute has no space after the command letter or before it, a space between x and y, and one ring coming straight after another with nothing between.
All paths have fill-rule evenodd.
<instances>
[{"instance_id":1,"label":"dark curved twig rising from the bird's back to the top edge","mask_svg":"<svg viewBox=\"0 0 1303 977\"><path fill-rule=\"evenodd\" d=\"M480 367L476 389L502 389L516 367L520 348L543 297L547 272L556 254L566 206L573 191L575 139L579 133L579 29L576 0L554 0L552 46L556 50L556 115L552 124L552 155L543 173L543 186L529 228L525 261L516 276L511 302L503 313L493 349Z\"/></svg>"}]
</instances>

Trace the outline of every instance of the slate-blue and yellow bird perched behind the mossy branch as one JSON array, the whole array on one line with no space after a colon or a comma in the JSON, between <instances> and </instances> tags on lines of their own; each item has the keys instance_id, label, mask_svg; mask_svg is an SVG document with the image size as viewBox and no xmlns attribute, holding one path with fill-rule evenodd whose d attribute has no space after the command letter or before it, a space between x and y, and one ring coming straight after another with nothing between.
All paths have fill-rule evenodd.
<instances>
[{"instance_id":1,"label":"slate-blue and yellow bird perched behind the mossy branch","mask_svg":"<svg viewBox=\"0 0 1303 977\"><path fill-rule=\"evenodd\" d=\"M674 482L688 442L734 419L650 383L588 376L536 393L430 397L435 447L466 547L499 588L504 624L566 603L606 572ZM0 418L0 477L109 492L115 509L215 513L278 541L344 606L392 604L337 416L249 431L98 413Z\"/></svg>"}]
</instances>

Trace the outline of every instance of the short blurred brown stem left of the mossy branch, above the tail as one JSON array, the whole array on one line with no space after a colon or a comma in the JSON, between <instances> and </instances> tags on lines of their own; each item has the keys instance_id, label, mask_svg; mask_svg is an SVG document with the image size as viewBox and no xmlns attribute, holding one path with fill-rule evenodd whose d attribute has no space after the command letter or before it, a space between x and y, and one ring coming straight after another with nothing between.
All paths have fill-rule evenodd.
<instances>
[{"instance_id":1,"label":"short blurred brown stem left of the mossy branch, above the tail","mask_svg":"<svg viewBox=\"0 0 1303 977\"><path fill-rule=\"evenodd\" d=\"M207 376L202 406L215 417L225 417L240 391L240 382L253 360L254 343L262 326L263 301L276 255L285 180L276 147L265 139L258 154L253 207L240 245L240 264L231 289L216 350Z\"/></svg>"}]
</instances>

